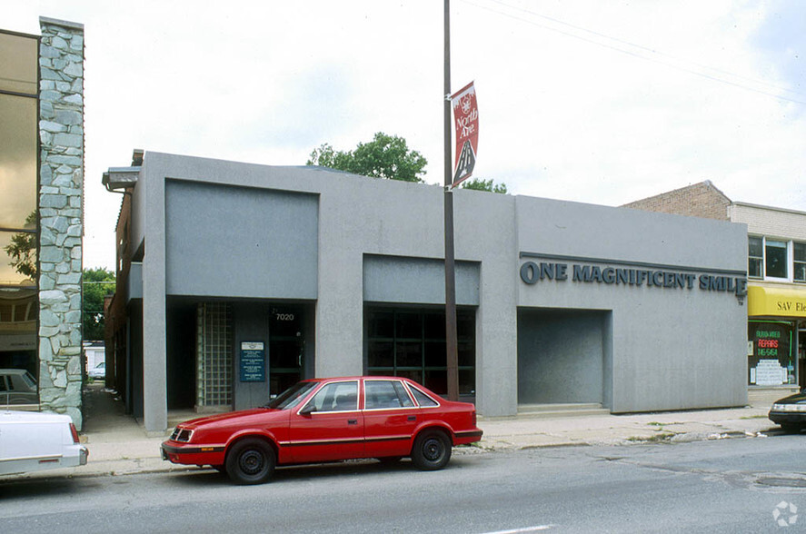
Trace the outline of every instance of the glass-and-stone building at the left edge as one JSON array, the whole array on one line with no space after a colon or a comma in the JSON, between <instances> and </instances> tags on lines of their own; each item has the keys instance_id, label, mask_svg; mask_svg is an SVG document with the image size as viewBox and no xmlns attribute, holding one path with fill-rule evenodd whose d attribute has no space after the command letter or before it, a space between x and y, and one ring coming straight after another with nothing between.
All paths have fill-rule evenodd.
<instances>
[{"instance_id":1,"label":"glass-and-stone building at the left edge","mask_svg":"<svg viewBox=\"0 0 806 534\"><path fill-rule=\"evenodd\" d=\"M84 27L39 20L0 31L0 367L81 428Z\"/></svg>"}]
</instances>

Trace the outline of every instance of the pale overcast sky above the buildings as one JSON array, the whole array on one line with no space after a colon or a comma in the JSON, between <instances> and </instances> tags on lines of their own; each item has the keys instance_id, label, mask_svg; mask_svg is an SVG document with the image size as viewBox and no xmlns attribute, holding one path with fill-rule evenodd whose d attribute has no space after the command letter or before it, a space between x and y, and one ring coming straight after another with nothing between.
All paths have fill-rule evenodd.
<instances>
[{"instance_id":1,"label":"pale overcast sky above the buildings","mask_svg":"<svg viewBox=\"0 0 806 534\"><path fill-rule=\"evenodd\" d=\"M443 175L440 0L0 0L0 27L85 25L85 267L114 268L132 150L275 165L403 136ZM619 205L711 180L806 211L806 2L453 0L474 175Z\"/></svg>"}]
</instances>

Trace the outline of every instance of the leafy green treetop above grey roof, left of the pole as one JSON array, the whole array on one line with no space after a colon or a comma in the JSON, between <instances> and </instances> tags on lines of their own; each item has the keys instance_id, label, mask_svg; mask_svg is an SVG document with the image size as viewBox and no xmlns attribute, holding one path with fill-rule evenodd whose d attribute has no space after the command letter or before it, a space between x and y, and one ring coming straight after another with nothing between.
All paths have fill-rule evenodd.
<instances>
[{"instance_id":1,"label":"leafy green treetop above grey roof, left of the pole","mask_svg":"<svg viewBox=\"0 0 806 534\"><path fill-rule=\"evenodd\" d=\"M333 146L324 143L313 149L305 164L373 178L423 182L427 163L421 153L409 149L403 137L378 132L369 143L358 143L355 150L347 152L333 150Z\"/></svg>"}]
</instances>

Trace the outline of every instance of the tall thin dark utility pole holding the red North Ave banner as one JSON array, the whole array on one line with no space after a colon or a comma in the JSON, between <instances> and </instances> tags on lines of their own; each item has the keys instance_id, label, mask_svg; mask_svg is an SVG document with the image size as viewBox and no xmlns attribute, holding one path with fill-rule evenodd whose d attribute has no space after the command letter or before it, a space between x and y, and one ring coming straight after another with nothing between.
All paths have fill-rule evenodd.
<instances>
[{"instance_id":1,"label":"tall thin dark utility pole holding the red North Ave banner","mask_svg":"<svg viewBox=\"0 0 806 534\"><path fill-rule=\"evenodd\" d=\"M456 276L453 266L453 158L451 150L451 3L444 0L444 143L445 143L445 352L448 401L459 400L459 351L456 335Z\"/></svg>"}]
</instances>

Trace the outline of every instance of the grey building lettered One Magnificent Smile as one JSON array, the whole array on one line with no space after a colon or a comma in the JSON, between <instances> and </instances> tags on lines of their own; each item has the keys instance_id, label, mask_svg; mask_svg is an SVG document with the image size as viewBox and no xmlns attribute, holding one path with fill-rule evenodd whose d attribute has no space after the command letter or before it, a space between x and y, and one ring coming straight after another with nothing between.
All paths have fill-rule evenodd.
<instances>
[{"instance_id":1,"label":"grey building lettered One Magnificent Smile","mask_svg":"<svg viewBox=\"0 0 806 534\"><path fill-rule=\"evenodd\" d=\"M164 153L104 181L120 173L116 372L148 430L311 376L443 391L441 187ZM745 404L745 226L453 195L460 392L480 413Z\"/></svg>"}]
</instances>

